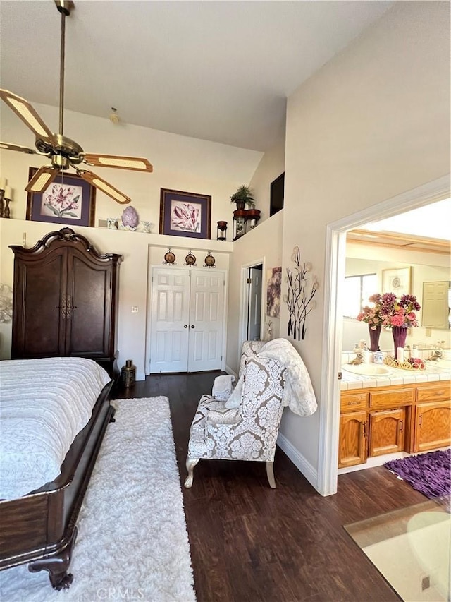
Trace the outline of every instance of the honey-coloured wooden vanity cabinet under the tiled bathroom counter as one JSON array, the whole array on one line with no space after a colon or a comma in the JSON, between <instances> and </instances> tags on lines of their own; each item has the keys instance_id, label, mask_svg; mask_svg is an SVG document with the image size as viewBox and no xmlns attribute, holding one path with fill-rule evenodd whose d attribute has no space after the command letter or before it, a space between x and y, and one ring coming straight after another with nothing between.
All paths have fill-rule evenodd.
<instances>
[{"instance_id":1,"label":"honey-coloured wooden vanity cabinet under the tiled bathroom counter","mask_svg":"<svg viewBox=\"0 0 451 602\"><path fill-rule=\"evenodd\" d=\"M451 445L451 381L342 391L338 467Z\"/></svg>"}]
</instances>

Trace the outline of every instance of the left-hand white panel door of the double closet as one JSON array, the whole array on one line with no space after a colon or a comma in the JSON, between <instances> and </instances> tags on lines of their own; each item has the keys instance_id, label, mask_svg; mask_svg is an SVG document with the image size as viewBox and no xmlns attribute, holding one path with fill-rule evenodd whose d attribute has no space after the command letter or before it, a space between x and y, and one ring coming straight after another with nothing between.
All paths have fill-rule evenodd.
<instances>
[{"instance_id":1,"label":"left-hand white panel door of the double closet","mask_svg":"<svg viewBox=\"0 0 451 602\"><path fill-rule=\"evenodd\" d=\"M154 268L150 371L186 372L190 323L190 272Z\"/></svg>"}]
</instances>

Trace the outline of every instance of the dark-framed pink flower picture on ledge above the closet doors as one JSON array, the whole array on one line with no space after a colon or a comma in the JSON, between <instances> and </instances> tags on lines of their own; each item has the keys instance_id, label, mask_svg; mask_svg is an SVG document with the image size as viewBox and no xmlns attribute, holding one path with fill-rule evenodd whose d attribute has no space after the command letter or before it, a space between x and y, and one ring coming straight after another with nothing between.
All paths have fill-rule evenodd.
<instances>
[{"instance_id":1,"label":"dark-framed pink flower picture on ledge above the closet doors","mask_svg":"<svg viewBox=\"0 0 451 602\"><path fill-rule=\"evenodd\" d=\"M211 196L161 188L160 234L211 237Z\"/></svg>"}]
</instances>

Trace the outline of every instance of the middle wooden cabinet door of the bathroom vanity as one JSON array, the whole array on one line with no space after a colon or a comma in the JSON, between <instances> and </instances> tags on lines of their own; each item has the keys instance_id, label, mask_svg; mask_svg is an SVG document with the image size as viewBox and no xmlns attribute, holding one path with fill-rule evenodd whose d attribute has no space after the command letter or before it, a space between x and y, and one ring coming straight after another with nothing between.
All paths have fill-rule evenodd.
<instances>
[{"instance_id":1,"label":"middle wooden cabinet door of the bathroom vanity","mask_svg":"<svg viewBox=\"0 0 451 602\"><path fill-rule=\"evenodd\" d=\"M368 455L382 456L404 450L404 408L374 411L369 416Z\"/></svg>"}]
</instances>

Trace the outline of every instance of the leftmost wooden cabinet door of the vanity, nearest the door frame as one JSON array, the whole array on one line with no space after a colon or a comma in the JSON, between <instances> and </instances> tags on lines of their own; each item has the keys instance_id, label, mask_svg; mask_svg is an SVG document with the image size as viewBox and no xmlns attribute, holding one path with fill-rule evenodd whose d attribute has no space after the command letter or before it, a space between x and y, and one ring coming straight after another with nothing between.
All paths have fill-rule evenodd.
<instances>
[{"instance_id":1,"label":"leftmost wooden cabinet door of the vanity, nearest the door frame","mask_svg":"<svg viewBox=\"0 0 451 602\"><path fill-rule=\"evenodd\" d=\"M340 415L338 468L366 462L366 411Z\"/></svg>"}]
</instances>

